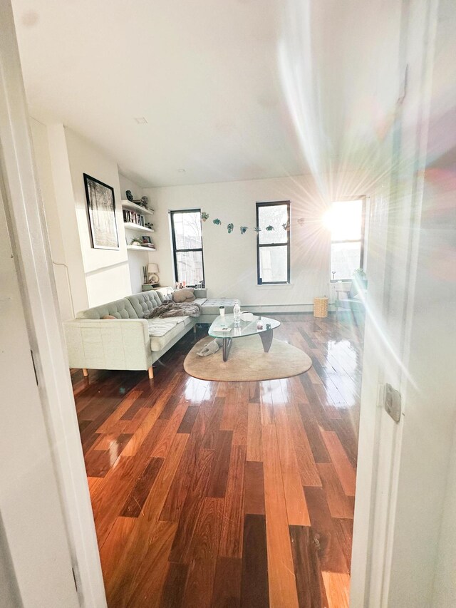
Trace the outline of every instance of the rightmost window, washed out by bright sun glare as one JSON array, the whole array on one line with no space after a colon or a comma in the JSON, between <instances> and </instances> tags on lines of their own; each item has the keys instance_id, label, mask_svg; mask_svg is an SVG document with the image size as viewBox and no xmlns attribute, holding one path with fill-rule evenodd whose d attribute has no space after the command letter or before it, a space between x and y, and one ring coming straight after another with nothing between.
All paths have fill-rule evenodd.
<instances>
[{"instance_id":1,"label":"rightmost window, washed out by bright sun glare","mask_svg":"<svg viewBox=\"0 0 456 608\"><path fill-rule=\"evenodd\" d=\"M333 202L325 223L331 230L331 281L351 279L363 267L364 200Z\"/></svg>"}]
</instances>

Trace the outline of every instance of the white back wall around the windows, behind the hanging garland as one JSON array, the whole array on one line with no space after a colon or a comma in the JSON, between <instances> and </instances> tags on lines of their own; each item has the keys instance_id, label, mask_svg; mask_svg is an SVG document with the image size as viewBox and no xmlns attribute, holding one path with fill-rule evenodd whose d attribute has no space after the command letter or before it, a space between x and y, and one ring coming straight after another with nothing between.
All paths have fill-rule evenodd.
<instances>
[{"instance_id":1,"label":"white back wall around the windows, behind the hanging garland","mask_svg":"<svg viewBox=\"0 0 456 608\"><path fill-rule=\"evenodd\" d=\"M323 176L324 181L324 176ZM368 194L361 178L331 178L331 200ZM209 213L202 223L204 275L209 297L239 297L244 306L268 306L271 310L310 309L314 297L329 295L330 236L321 218L325 201L310 175L269 180L223 182L204 185L160 187L144 190L155 208L155 242L160 283L172 284L172 245L169 210L200 208ZM256 202L291 201L291 284L257 285ZM222 226L212 220L219 218ZM304 226L298 220L304 218ZM234 232L227 233L227 223ZM249 226L245 235L239 226Z\"/></svg>"}]
</instances>

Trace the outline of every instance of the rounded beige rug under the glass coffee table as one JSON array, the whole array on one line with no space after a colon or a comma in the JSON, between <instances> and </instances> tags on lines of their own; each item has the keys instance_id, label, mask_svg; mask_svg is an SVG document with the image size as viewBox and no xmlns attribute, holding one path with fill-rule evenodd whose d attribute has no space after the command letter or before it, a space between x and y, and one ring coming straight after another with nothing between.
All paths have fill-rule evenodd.
<instances>
[{"instance_id":1,"label":"rounded beige rug under the glass coffee table","mask_svg":"<svg viewBox=\"0 0 456 608\"><path fill-rule=\"evenodd\" d=\"M190 376L200 380L273 380L297 376L312 365L304 351L281 340L273 340L269 353L265 353L259 336L235 338L226 362L222 358L222 348L207 357L197 356L212 340L210 336L199 340L185 357L184 369Z\"/></svg>"}]
</instances>

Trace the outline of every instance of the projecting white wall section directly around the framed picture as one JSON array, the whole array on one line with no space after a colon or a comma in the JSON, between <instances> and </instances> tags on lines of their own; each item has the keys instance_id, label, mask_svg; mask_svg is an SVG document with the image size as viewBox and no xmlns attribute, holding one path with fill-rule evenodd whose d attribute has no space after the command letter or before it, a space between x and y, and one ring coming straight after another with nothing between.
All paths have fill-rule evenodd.
<instances>
[{"instance_id":1,"label":"projecting white wall section directly around the framed picture","mask_svg":"<svg viewBox=\"0 0 456 608\"><path fill-rule=\"evenodd\" d=\"M123 230L122 207L118 167L114 160L73 130L65 128L68 160L73 183L74 204L78 222L84 271L86 273L89 306L97 306L125 297L131 293L128 255ZM95 177L114 189L115 217L118 228L119 249L93 249L83 173Z\"/></svg>"}]
</instances>

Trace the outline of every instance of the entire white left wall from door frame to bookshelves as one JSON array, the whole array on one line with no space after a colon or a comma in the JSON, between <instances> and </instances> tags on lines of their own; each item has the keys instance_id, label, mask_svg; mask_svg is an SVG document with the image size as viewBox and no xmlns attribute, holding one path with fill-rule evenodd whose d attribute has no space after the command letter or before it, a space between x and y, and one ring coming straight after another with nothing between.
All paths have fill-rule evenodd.
<instances>
[{"instance_id":1,"label":"entire white left wall from door frame to bookshelves","mask_svg":"<svg viewBox=\"0 0 456 608\"><path fill-rule=\"evenodd\" d=\"M31 118L38 180L46 212L58 302L63 320L76 312L141 291L142 267L151 254L126 249L121 200L125 190L142 196L138 184L118 173L103 150L63 125ZM120 249L93 249L88 226L83 173L114 188Z\"/></svg>"}]
</instances>

